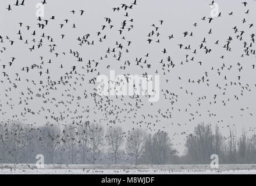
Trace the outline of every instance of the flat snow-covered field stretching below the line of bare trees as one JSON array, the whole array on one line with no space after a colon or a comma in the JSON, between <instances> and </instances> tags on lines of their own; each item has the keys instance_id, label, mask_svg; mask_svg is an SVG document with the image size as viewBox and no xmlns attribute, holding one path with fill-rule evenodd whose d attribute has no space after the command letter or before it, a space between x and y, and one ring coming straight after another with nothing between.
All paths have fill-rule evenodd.
<instances>
[{"instance_id":1,"label":"flat snow-covered field stretching below the line of bare trees","mask_svg":"<svg viewBox=\"0 0 256 186\"><path fill-rule=\"evenodd\" d=\"M0 174L256 174L255 164L225 164L219 169L209 165L90 165L0 164Z\"/></svg>"}]
</instances>

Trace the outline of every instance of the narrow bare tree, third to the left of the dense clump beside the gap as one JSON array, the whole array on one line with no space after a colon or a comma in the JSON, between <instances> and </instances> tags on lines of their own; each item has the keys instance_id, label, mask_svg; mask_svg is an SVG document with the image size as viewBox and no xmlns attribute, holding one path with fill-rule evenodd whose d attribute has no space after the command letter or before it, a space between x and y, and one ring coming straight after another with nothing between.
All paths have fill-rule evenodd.
<instances>
[{"instance_id":1,"label":"narrow bare tree, third to the left of the dense clump beside the gap","mask_svg":"<svg viewBox=\"0 0 256 186\"><path fill-rule=\"evenodd\" d=\"M102 142L104 130L98 123L92 123L88 126L88 144L90 145L91 151L93 151L93 163L96 161L96 155L99 150L99 146Z\"/></svg>"}]
</instances>

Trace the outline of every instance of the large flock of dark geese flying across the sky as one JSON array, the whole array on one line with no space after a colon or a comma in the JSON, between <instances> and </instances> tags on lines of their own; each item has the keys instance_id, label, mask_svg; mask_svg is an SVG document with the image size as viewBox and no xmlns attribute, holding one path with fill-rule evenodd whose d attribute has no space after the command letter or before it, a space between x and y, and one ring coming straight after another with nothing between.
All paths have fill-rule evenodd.
<instances>
[{"instance_id":1,"label":"large flock of dark geese flying across the sky","mask_svg":"<svg viewBox=\"0 0 256 186\"><path fill-rule=\"evenodd\" d=\"M26 0L5 2L6 5L3 2L1 5L5 5L6 15L15 15L17 9L26 11L27 3L31 3ZM45 9L51 5L47 0L41 3ZM209 5L214 5L214 1L209 1ZM244 81L248 78L244 77L247 76L247 71L254 73L256 70L255 26L248 18L255 2L241 1L240 6L244 11L243 17L237 20L236 25L230 27L226 40L220 40L216 36L216 29L212 24L221 24L223 19L229 22L234 15L240 13L240 9L219 12L216 17L198 17L198 20L187 26L186 31L169 35L164 35L162 28L170 23L165 21L165 17L159 17L159 22L152 23L148 26L149 32L141 35L145 49L159 46L158 51L154 53L138 54L139 51L133 49L136 47L133 45L136 41L132 40L130 33L136 33L138 23L136 17L133 17L133 10L141 8L138 0L129 0L110 9L109 14L115 16L102 17L102 23L94 33L86 33L85 30L85 34L76 35L75 31L67 31L79 30L80 24L84 24L83 19L90 17L86 8L70 9L65 17L59 17L58 12L49 17L35 17L36 24L27 24L26 20L10 23L16 25L15 32L3 33L0 29L0 87L4 87L0 91L0 118L4 121L23 122L35 118L34 123L43 120L45 123L59 125L79 124L86 120L105 126L128 124L131 127L145 128L149 132L176 131L171 137L173 140L177 135L185 137L189 133L186 125L200 122L205 115L214 117L222 128L229 127L233 123L222 119L211 107L215 105L219 110L225 110L223 107L234 102L243 102L243 99L247 95L251 96L251 92L256 89L255 77L249 77L253 83ZM73 21L74 16L76 22ZM116 17L122 19L122 22L116 22ZM200 30L202 25L209 29ZM59 35L51 34L57 27ZM201 32L200 40L197 35L197 42L190 42L197 31ZM114 33L116 37L109 39L109 33ZM70 37L73 37L76 45L70 45L67 41ZM176 39L181 37L182 40ZM168 42L165 47L162 47L163 40ZM99 48L106 44L109 47L105 48L104 53L97 52L99 58L86 57L86 49ZM16 55L17 46L22 46L22 49L27 51L22 55L37 55L37 60L28 57L27 61L31 65L21 61L19 55ZM63 50L61 46L69 49ZM240 58L228 60L229 56L237 55L237 52L233 53L237 48ZM173 59L173 49L178 49L184 57ZM218 56L219 60L212 64L211 68L206 69L207 60L213 55L216 56L216 51L222 55ZM131 56L131 52L137 55L133 60L127 57ZM153 61L151 56L158 61ZM23 64L25 66L22 66ZM13 70L17 69L15 66L22 67ZM170 78L180 67L186 66L198 71L198 78L186 78L189 74L182 71L176 78ZM158 74L161 77L161 104L149 103L148 99L144 98L147 96L99 96L97 76L116 68L125 76L133 74L134 69L140 71L140 75L144 77L151 71ZM236 76L230 75L231 73ZM178 90L172 88L174 81L179 84ZM212 90L211 95L204 94L204 90L208 88ZM187 99L182 99L182 96ZM255 110L250 106L240 106L236 110L245 118L253 119L255 115ZM179 113L179 116L188 116L189 119L183 122L183 118L180 118L179 122L174 122L176 113ZM235 113L230 116L230 120L233 117L236 117ZM179 127L184 128L180 131ZM254 128L250 130L253 131Z\"/></svg>"}]
</instances>

